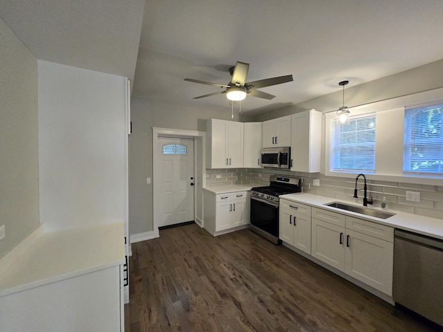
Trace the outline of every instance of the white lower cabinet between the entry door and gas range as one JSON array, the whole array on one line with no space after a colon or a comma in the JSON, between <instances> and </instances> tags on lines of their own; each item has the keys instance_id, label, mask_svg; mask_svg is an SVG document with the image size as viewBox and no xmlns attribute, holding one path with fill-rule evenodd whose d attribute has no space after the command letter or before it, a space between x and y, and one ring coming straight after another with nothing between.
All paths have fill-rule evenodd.
<instances>
[{"instance_id":1,"label":"white lower cabinet between the entry door and gas range","mask_svg":"<svg viewBox=\"0 0 443 332\"><path fill-rule=\"evenodd\" d=\"M248 192L213 194L205 190L204 228L215 236L217 232L246 226L249 223L248 206Z\"/></svg>"}]
</instances>

